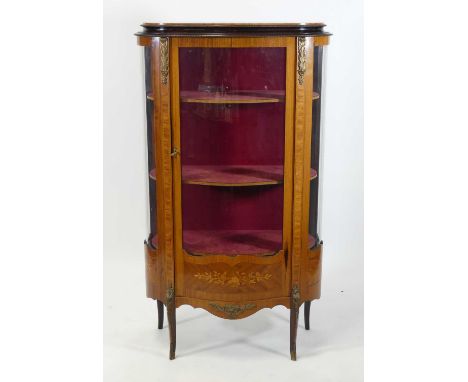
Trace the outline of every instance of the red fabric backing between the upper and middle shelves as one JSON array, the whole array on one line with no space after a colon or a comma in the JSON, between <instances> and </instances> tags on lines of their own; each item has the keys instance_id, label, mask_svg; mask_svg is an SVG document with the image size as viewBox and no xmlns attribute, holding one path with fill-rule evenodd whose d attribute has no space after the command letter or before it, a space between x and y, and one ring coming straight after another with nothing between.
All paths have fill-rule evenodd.
<instances>
[{"instance_id":1,"label":"red fabric backing between the upper and middle shelves","mask_svg":"<svg viewBox=\"0 0 468 382\"><path fill-rule=\"evenodd\" d=\"M181 105L184 165L282 165L284 103Z\"/></svg>"}]
</instances>

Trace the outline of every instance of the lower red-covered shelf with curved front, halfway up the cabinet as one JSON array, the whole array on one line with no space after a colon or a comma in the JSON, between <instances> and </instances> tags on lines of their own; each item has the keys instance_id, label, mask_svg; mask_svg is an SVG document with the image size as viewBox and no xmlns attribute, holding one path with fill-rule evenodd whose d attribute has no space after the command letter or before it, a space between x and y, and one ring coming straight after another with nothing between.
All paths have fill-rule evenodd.
<instances>
[{"instance_id":1,"label":"lower red-covered shelf with curved front, halfway up the cabinet","mask_svg":"<svg viewBox=\"0 0 468 382\"><path fill-rule=\"evenodd\" d=\"M310 180L317 171L310 169ZM156 180L156 170L150 171ZM218 187L249 187L283 183L283 166L182 166L182 183Z\"/></svg>"}]
</instances>

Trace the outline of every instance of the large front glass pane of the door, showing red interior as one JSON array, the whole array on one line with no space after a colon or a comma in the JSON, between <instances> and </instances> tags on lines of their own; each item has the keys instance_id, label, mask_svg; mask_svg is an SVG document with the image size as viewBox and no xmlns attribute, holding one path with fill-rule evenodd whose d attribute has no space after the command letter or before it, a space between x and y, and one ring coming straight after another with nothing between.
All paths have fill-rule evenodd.
<instances>
[{"instance_id":1,"label":"large front glass pane of the door, showing red interior","mask_svg":"<svg viewBox=\"0 0 468 382\"><path fill-rule=\"evenodd\" d=\"M283 247L286 48L180 48L183 247Z\"/></svg>"}]
</instances>

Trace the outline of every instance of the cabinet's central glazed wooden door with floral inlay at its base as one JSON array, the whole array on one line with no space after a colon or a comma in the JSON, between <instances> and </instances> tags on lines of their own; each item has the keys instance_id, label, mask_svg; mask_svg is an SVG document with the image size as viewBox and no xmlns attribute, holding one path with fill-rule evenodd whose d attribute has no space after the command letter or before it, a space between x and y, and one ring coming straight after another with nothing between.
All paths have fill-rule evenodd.
<instances>
[{"instance_id":1,"label":"cabinet's central glazed wooden door with floral inlay at its base","mask_svg":"<svg viewBox=\"0 0 468 382\"><path fill-rule=\"evenodd\" d=\"M190 287L187 262L266 264L281 255L286 295L295 39L170 41L176 294ZM248 268L192 273L226 287L273 277Z\"/></svg>"}]
</instances>

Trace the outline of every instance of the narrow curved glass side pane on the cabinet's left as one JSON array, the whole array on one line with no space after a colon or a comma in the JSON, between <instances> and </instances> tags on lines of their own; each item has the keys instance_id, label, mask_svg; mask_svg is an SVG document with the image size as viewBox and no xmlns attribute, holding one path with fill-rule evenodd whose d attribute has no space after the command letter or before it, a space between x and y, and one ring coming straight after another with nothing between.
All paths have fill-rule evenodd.
<instances>
[{"instance_id":1,"label":"narrow curved glass side pane on the cabinet's left","mask_svg":"<svg viewBox=\"0 0 468 382\"><path fill-rule=\"evenodd\" d=\"M151 78L151 47L144 49L145 63L145 98L146 98L146 138L147 138L147 154L148 154L148 202L150 206L149 230L150 241L153 246L157 247L157 217L156 217L156 162L155 162L155 147L153 145L153 83Z\"/></svg>"}]
</instances>

